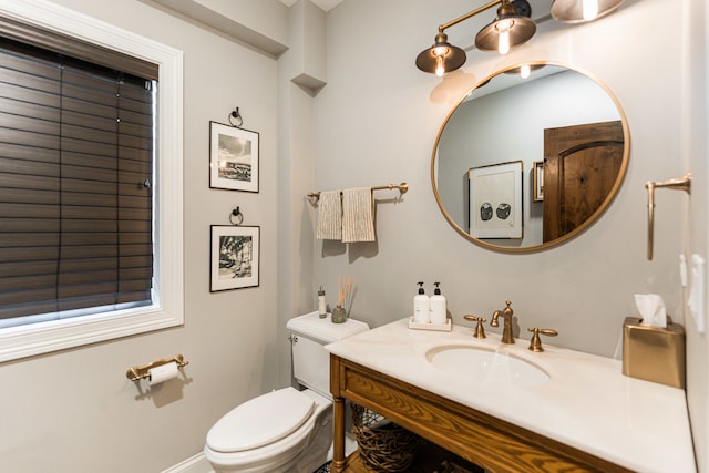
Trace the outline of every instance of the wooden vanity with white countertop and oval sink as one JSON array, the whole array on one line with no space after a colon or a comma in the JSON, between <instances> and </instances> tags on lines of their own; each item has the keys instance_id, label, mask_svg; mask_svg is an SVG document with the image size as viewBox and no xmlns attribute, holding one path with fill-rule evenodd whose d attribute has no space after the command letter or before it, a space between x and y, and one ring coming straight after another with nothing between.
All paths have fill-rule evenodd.
<instances>
[{"instance_id":1,"label":"wooden vanity with white countertop and oval sink","mask_svg":"<svg viewBox=\"0 0 709 473\"><path fill-rule=\"evenodd\" d=\"M528 345L402 319L327 346L331 471L351 471L346 400L495 473L696 471L684 390L625 377L619 360Z\"/></svg>"}]
</instances>

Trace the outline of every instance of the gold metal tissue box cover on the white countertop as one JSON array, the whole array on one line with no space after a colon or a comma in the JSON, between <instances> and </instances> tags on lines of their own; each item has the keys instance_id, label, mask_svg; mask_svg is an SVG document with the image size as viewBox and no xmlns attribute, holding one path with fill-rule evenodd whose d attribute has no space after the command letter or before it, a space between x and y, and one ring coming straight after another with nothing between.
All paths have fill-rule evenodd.
<instances>
[{"instance_id":1,"label":"gold metal tissue box cover on the white countertop","mask_svg":"<svg viewBox=\"0 0 709 473\"><path fill-rule=\"evenodd\" d=\"M623 374L685 389L685 328L667 317L667 328L623 323Z\"/></svg>"}]
</instances>

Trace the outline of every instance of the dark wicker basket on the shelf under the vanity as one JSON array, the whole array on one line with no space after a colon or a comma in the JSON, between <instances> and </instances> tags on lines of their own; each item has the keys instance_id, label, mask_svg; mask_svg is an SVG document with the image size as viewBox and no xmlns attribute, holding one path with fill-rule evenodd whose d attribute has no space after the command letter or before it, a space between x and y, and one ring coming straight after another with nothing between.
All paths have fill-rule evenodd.
<instances>
[{"instance_id":1,"label":"dark wicker basket on the shelf under the vanity","mask_svg":"<svg viewBox=\"0 0 709 473\"><path fill-rule=\"evenodd\" d=\"M407 471L420 444L415 434L354 403L352 433L362 463L376 472Z\"/></svg>"}]
</instances>

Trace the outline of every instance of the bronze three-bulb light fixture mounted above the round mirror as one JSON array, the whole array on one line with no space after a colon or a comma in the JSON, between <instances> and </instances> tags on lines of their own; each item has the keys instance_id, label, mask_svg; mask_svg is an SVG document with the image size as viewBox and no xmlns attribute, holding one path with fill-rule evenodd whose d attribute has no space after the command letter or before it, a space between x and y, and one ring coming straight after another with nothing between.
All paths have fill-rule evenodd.
<instances>
[{"instance_id":1,"label":"bronze three-bulb light fixture mounted above the round mirror","mask_svg":"<svg viewBox=\"0 0 709 473\"><path fill-rule=\"evenodd\" d=\"M624 0L554 0L552 18L562 23L583 23L596 20L615 11ZM445 30L500 4L497 17L475 37L475 47L481 51L497 51L505 54L518 44L524 44L536 32L536 23L530 17L532 9L527 0L493 0L455 20L439 25L435 42L417 56L417 68L441 76L455 71L465 63L465 51L448 42Z\"/></svg>"}]
</instances>

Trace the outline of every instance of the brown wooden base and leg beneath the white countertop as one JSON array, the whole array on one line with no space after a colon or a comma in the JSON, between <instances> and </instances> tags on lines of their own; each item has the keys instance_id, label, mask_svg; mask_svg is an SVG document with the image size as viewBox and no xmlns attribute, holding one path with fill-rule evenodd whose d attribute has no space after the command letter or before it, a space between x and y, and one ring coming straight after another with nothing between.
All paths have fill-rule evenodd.
<instances>
[{"instance_id":1,"label":"brown wooden base and leg beneath the white countertop","mask_svg":"<svg viewBox=\"0 0 709 473\"><path fill-rule=\"evenodd\" d=\"M366 472L345 457L345 400L495 473L629 472L619 465L538 435L376 370L330 354L335 401L335 455L330 471Z\"/></svg>"}]
</instances>

